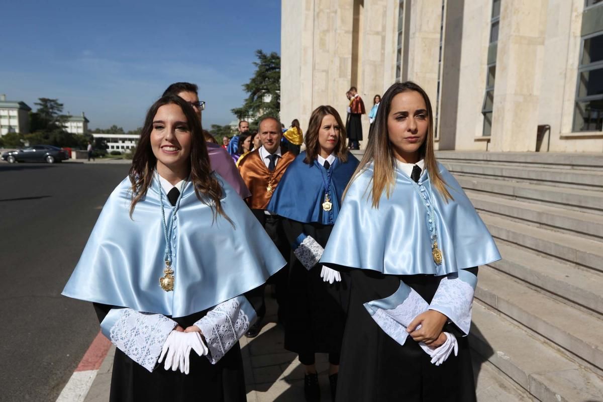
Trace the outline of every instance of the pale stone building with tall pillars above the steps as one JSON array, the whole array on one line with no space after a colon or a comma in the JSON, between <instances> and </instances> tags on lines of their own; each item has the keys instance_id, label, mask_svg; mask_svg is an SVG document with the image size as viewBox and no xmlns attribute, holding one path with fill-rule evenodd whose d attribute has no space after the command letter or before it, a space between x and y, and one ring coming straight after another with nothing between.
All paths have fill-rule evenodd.
<instances>
[{"instance_id":1,"label":"pale stone building with tall pillars above the steps","mask_svg":"<svg viewBox=\"0 0 603 402\"><path fill-rule=\"evenodd\" d=\"M437 149L603 151L602 0L282 0L281 41L285 124L412 80Z\"/></svg>"}]
</instances>

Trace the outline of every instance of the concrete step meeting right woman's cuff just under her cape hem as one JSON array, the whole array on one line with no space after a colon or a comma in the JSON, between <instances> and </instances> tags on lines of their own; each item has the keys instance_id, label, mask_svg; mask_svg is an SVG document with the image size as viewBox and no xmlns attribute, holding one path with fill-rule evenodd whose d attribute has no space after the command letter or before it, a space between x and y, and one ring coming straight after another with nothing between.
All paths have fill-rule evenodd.
<instances>
[{"instance_id":1,"label":"concrete step meeting right woman's cuff just under her cape hem","mask_svg":"<svg viewBox=\"0 0 603 402\"><path fill-rule=\"evenodd\" d=\"M603 320L493 268L482 267L478 278L476 298L603 370Z\"/></svg>"}]
</instances>

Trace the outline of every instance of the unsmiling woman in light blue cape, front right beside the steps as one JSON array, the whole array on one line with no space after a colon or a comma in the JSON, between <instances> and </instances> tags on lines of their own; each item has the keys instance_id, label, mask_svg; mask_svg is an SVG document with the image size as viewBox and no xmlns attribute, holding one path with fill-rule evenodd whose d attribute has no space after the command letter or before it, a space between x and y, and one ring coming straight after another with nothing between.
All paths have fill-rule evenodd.
<instances>
[{"instance_id":1,"label":"unsmiling woman in light blue cape, front right beside the steps","mask_svg":"<svg viewBox=\"0 0 603 402\"><path fill-rule=\"evenodd\" d=\"M435 160L425 91L384 94L321 263L350 272L338 401L476 400L469 345L490 233Z\"/></svg>"}]
</instances>

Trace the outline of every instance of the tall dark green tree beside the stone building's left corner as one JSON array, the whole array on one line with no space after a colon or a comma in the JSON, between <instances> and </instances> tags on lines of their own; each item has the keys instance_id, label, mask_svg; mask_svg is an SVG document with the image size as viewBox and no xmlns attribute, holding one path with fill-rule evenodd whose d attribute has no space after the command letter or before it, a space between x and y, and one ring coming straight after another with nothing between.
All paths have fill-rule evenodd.
<instances>
[{"instance_id":1,"label":"tall dark green tree beside the stone building's left corner","mask_svg":"<svg viewBox=\"0 0 603 402\"><path fill-rule=\"evenodd\" d=\"M243 89L249 95L241 107L233 108L232 113L239 119L251 118L254 121L271 116L279 118L280 112L280 56L256 50L256 72ZM255 128L255 124L252 124Z\"/></svg>"}]
</instances>

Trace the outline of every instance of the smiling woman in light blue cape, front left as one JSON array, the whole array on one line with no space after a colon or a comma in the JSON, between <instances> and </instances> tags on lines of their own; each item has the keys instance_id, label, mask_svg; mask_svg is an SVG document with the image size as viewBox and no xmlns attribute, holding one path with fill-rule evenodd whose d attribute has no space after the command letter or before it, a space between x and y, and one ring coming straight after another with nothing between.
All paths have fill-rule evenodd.
<instances>
[{"instance_id":1,"label":"smiling woman in light blue cape, front left","mask_svg":"<svg viewBox=\"0 0 603 402\"><path fill-rule=\"evenodd\" d=\"M109 196L63 295L92 301L115 344L111 401L245 401L245 293L285 261L210 169L179 96L147 113L130 175Z\"/></svg>"}]
</instances>

